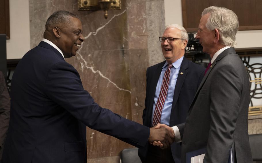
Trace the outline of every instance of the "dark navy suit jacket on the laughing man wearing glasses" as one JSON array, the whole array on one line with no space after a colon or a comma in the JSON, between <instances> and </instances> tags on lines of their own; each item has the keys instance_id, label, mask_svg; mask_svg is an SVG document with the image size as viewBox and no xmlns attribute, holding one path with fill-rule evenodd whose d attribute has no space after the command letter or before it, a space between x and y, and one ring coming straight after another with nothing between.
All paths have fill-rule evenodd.
<instances>
[{"instance_id":1,"label":"dark navy suit jacket on the laughing man wearing glasses","mask_svg":"<svg viewBox=\"0 0 262 163\"><path fill-rule=\"evenodd\" d=\"M147 69L147 90L145 98L145 109L143 110L143 124L148 127L152 125L151 119L155 90L165 62L166 61L158 63ZM170 126L175 126L185 122L188 108L204 76L204 70L205 68L203 66L188 61L185 57L183 58L176 81L172 109L170 110ZM183 72L182 75L180 74L181 72ZM147 146L145 148L139 149L138 154L141 160L145 160L147 150ZM181 158L181 145L178 143L173 143L171 145L171 150L174 161L179 163Z\"/></svg>"}]
</instances>

